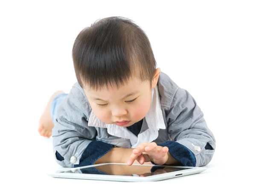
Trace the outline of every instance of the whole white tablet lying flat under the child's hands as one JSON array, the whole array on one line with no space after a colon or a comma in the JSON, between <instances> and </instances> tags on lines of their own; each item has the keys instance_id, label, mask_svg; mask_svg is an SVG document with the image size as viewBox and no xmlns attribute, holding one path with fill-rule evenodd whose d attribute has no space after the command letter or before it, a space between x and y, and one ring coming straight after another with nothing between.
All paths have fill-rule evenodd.
<instances>
[{"instance_id":1,"label":"whole white tablet lying flat under the child's hands","mask_svg":"<svg viewBox=\"0 0 256 192\"><path fill-rule=\"evenodd\" d=\"M90 179L104 181L160 181L200 173L206 167L181 167L164 165L128 166L122 163L104 163L70 168L47 175L55 178Z\"/></svg>"}]
</instances>

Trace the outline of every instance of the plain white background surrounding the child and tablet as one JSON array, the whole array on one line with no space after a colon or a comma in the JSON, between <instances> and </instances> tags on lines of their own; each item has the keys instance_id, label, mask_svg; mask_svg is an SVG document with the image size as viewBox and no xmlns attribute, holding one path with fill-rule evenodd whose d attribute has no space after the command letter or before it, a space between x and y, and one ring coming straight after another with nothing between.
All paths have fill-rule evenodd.
<instances>
[{"instance_id":1,"label":"plain white background surrounding the child and tablet","mask_svg":"<svg viewBox=\"0 0 256 192\"><path fill-rule=\"evenodd\" d=\"M26 191L255 190L256 3L191 1L1 1L1 187ZM38 120L56 90L76 82L79 32L110 16L134 20L158 67L188 90L216 138L207 171L152 183L57 179L52 140ZM121 187L121 189L120 189ZM1 190L2 191L2 190Z\"/></svg>"}]
</instances>

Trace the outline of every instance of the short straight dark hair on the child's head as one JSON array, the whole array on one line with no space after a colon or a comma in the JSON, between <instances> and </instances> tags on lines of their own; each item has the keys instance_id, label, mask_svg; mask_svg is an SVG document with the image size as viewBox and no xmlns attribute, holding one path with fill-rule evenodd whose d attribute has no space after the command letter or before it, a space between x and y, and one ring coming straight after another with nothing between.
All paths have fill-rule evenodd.
<instances>
[{"instance_id":1,"label":"short straight dark hair on the child's head","mask_svg":"<svg viewBox=\"0 0 256 192\"><path fill-rule=\"evenodd\" d=\"M125 17L107 17L84 28L74 42L76 78L92 89L124 85L130 77L152 81L156 61L144 31Z\"/></svg>"}]
</instances>

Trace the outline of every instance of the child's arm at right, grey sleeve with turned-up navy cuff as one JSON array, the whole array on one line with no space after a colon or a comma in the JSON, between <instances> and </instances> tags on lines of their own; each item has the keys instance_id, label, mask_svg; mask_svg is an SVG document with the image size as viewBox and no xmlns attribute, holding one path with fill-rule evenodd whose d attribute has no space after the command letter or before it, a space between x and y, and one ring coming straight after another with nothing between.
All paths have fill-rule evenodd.
<instances>
[{"instance_id":1,"label":"child's arm at right, grey sleeve with turned-up navy cuff","mask_svg":"<svg viewBox=\"0 0 256 192\"><path fill-rule=\"evenodd\" d=\"M169 152L173 158L183 165L207 165L215 151L215 138L207 127L203 112L187 90L177 89L166 119L173 141L167 141L164 146L172 146Z\"/></svg>"}]
</instances>

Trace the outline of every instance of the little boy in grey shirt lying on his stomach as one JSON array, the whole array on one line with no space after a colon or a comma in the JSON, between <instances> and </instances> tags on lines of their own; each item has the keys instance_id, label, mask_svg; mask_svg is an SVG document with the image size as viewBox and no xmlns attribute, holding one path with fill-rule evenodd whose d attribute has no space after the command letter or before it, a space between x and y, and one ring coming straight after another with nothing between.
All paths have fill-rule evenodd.
<instances>
[{"instance_id":1,"label":"little boy in grey shirt lying on his stomach","mask_svg":"<svg viewBox=\"0 0 256 192\"><path fill-rule=\"evenodd\" d=\"M52 134L58 164L211 161L215 138L201 109L156 68L148 37L134 22L108 17L82 30L73 63L78 82L69 94L52 95L38 129Z\"/></svg>"}]
</instances>

